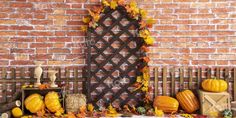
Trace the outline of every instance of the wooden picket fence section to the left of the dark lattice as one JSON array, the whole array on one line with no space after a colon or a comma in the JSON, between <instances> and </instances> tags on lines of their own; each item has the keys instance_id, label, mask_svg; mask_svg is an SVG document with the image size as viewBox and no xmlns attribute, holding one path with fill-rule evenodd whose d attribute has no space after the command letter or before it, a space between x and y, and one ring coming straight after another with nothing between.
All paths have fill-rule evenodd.
<instances>
[{"instance_id":1,"label":"wooden picket fence section to the left of the dark lattice","mask_svg":"<svg viewBox=\"0 0 236 118\"><path fill-rule=\"evenodd\" d=\"M65 86L67 93L81 92L83 81L82 68L79 67L43 67L41 83L49 82L50 79L47 70L57 70L56 83L59 86ZM34 78L34 67L32 68L0 68L0 103L4 103L12 95L20 91L22 85L33 85L36 79Z\"/></svg>"}]
</instances>

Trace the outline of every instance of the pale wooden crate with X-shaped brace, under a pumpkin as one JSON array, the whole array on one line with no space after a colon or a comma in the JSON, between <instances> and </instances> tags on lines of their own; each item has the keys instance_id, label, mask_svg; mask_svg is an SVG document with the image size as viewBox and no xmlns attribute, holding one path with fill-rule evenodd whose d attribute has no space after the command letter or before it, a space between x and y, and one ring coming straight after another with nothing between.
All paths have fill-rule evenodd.
<instances>
[{"instance_id":1,"label":"pale wooden crate with X-shaped brace, under a pumpkin","mask_svg":"<svg viewBox=\"0 0 236 118\"><path fill-rule=\"evenodd\" d=\"M227 92L213 93L199 90L201 114L220 117L221 112L230 109L230 95Z\"/></svg>"}]
</instances>

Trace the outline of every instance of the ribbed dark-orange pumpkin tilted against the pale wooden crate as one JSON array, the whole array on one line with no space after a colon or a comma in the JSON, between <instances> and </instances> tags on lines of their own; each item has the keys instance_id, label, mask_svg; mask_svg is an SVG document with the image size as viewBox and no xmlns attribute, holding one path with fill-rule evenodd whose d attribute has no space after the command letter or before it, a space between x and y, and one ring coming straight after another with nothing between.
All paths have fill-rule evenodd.
<instances>
[{"instance_id":1,"label":"ribbed dark-orange pumpkin tilted against the pale wooden crate","mask_svg":"<svg viewBox=\"0 0 236 118\"><path fill-rule=\"evenodd\" d=\"M180 106L187 113L193 113L199 109L199 102L197 97L190 90L184 90L176 94Z\"/></svg>"}]
</instances>

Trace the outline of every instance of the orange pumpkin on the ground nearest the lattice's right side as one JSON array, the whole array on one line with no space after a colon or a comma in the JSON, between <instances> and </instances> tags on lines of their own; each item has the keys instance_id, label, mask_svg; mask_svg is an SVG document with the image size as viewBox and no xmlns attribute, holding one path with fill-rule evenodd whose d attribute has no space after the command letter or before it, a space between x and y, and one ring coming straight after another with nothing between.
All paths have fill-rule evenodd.
<instances>
[{"instance_id":1,"label":"orange pumpkin on the ground nearest the lattice's right side","mask_svg":"<svg viewBox=\"0 0 236 118\"><path fill-rule=\"evenodd\" d=\"M169 96L157 96L154 99L153 107L166 113L174 113L178 110L179 102Z\"/></svg>"}]
</instances>

